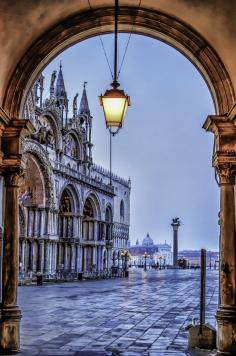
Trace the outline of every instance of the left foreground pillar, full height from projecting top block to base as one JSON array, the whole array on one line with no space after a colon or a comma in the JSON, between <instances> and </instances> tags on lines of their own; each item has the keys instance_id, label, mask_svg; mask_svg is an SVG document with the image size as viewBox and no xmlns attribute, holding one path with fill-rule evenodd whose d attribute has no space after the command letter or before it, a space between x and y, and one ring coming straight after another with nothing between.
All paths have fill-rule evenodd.
<instances>
[{"instance_id":1,"label":"left foreground pillar, full height from projecting top block to base","mask_svg":"<svg viewBox=\"0 0 236 356\"><path fill-rule=\"evenodd\" d=\"M22 142L33 131L28 120L11 120L0 112L0 171L5 179L5 216L2 257L2 301L0 305L0 350L20 349L21 311L17 306L19 273L19 201L22 175ZM4 122L4 124L3 124ZM4 128L3 128L4 126Z\"/></svg>"}]
</instances>

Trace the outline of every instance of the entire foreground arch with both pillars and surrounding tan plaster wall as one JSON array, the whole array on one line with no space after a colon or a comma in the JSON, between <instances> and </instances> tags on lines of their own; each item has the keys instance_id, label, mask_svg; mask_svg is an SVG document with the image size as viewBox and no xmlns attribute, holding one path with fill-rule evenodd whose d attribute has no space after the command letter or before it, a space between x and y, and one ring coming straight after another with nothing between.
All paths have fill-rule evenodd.
<instances>
[{"instance_id":1,"label":"entire foreground arch with both pillars and surrounding tan plaster wall","mask_svg":"<svg viewBox=\"0 0 236 356\"><path fill-rule=\"evenodd\" d=\"M141 6L138 5L136 1L121 1L119 30L132 29L135 33L161 39L181 51L202 73L215 103L216 113L209 113L204 129L214 134L213 166L219 176L221 192L218 354L234 355L236 3L199 0L196 4L176 0L173 4L171 0L142 0ZM17 11L18 7L25 6L24 1L15 2L14 6L2 1L1 6L4 7L1 13L6 31L0 38L0 165L5 184L0 345L12 351L20 347L17 274L21 143L32 131L31 124L22 117L24 100L38 73L62 49L93 35L113 31L113 2L93 0L91 9L86 2L74 0L63 4L59 0L51 3L45 0L40 4L32 1L27 2L25 12ZM40 14L41 21L35 14ZM25 31L26 23L29 31Z\"/></svg>"}]
</instances>

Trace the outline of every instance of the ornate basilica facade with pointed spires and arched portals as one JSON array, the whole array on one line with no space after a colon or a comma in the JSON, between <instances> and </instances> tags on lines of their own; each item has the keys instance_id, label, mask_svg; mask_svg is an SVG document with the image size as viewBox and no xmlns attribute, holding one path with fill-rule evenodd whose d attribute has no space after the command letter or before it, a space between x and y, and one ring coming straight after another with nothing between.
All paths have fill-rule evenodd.
<instances>
[{"instance_id":1,"label":"ornate basilica facade with pointed spires and arched portals","mask_svg":"<svg viewBox=\"0 0 236 356\"><path fill-rule=\"evenodd\" d=\"M49 96L40 75L24 116L35 132L24 142L19 193L20 275L109 271L128 247L130 180L92 158L92 116L86 83L69 115L63 71L51 76ZM110 181L111 178L111 181Z\"/></svg>"}]
</instances>

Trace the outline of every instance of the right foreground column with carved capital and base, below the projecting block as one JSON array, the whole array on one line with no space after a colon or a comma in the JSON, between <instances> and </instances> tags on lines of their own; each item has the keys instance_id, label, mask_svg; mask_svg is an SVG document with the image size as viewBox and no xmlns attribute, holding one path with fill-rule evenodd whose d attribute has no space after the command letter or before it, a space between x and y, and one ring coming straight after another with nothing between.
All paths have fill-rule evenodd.
<instances>
[{"instance_id":1,"label":"right foreground column with carved capital and base, below the projecting block","mask_svg":"<svg viewBox=\"0 0 236 356\"><path fill-rule=\"evenodd\" d=\"M236 355L236 233L235 170L236 166L218 166L220 176L220 300L218 354Z\"/></svg>"}]
</instances>

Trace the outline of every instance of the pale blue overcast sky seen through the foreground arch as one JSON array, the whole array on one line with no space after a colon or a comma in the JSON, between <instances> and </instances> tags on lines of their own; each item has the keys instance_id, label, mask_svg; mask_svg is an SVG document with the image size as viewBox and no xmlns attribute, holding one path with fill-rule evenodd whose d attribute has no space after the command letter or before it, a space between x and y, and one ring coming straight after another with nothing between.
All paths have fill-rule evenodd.
<instances>
[{"instance_id":1,"label":"pale blue overcast sky seen through the foreground arch","mask_svg":"<svg viewBox=\"0 0 236 356\"><path fill-rule=\"evenodd\" d=\"M113 35L102 36L113 67ZM119 63L128 34L119 35ZM87 81L93 116L93 161L109 169L109 134L98 96L112 81L99 37L74 45L43 71L45 96L62 62L70 99ZM122 130L113 139L113 172L131 178L130 239L147 232L156 243L172 244L173 217L179 217L179 249L218 250L219 188L211 164L213 135L202 129L214 105L193 64L174 48L132 35L119 77L131 97Z\"/></svg>"}]
</instances>

